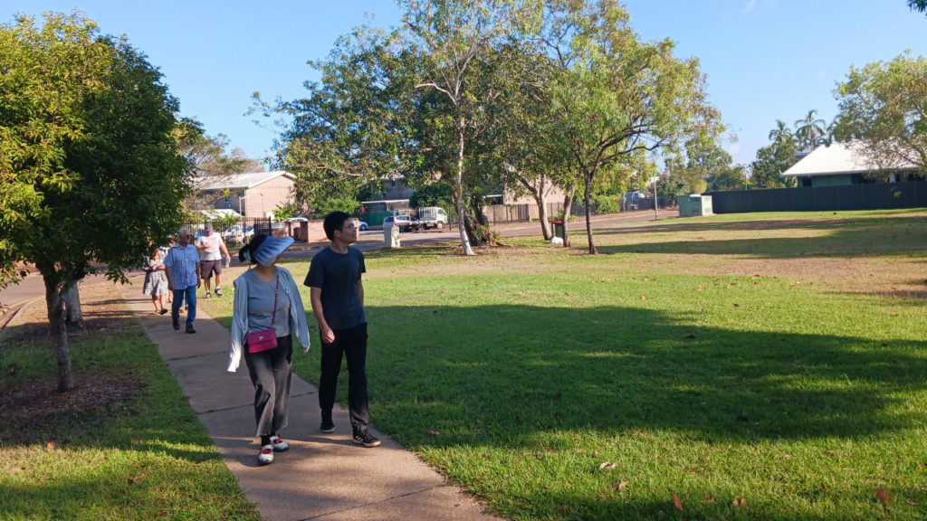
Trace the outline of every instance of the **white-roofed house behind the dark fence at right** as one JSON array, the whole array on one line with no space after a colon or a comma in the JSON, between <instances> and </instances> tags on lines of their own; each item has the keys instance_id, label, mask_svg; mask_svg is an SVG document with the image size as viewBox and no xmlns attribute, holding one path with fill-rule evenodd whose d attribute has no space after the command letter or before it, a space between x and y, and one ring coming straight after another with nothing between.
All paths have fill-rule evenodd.
<instances>
[{"instance_id":1,"label":"white-roofed house behind the dark fence at right","mask_svg":"<svg viewBox=\"0 0 927 521\"><path fill-rule=\"evenodd\" d=\"M798 186L839 186L843 184L871 183L863 174L872 172L869 164L857 152L857 143L834 143L819 146L807 154L792 168L782 173L783 177L794 177ZM908 171L913 167L900 167L889 174L889 183L913 180Z\"/></svg>"}]
</instances>

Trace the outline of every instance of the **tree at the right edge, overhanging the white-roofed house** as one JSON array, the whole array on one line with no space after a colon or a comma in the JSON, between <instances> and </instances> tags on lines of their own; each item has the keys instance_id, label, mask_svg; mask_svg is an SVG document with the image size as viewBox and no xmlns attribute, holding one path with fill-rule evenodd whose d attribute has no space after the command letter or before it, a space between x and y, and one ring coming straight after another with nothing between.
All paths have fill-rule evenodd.
<instances>
[{"instance_id":1,"label":"tree at the right edge, overhanging the white-roofed house","mask_svg":"<svg viewBox=\"0 0 927 521\"><path fill-rule=\"evenodd\" d=\"M834 95L836 137L858 140L853 151L870 169L927 172L927 59L906 52L887 63L853 67Z\"/></svg>"}]
</instances>

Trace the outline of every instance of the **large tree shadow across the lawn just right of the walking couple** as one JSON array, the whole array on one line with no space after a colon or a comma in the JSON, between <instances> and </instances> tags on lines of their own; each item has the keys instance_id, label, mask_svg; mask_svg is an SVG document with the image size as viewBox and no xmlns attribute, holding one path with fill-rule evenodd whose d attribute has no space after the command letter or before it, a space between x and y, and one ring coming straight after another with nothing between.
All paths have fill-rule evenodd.
<instances>
[{"instance_id":1,"label":"large tree shadow across the lawn just right of the walking couple","mask_svg":"<svg viewBox=\"0 0 927 521\"><path fill-rule=\"evenodd\" d=\"M901 398L927 388L921 340L722 329L618 307L434 311L367 311L382 324L368 355L375 424L405 444L517 446L583 428L862 439L925 419Z\"/></svg>"}]
</instances>

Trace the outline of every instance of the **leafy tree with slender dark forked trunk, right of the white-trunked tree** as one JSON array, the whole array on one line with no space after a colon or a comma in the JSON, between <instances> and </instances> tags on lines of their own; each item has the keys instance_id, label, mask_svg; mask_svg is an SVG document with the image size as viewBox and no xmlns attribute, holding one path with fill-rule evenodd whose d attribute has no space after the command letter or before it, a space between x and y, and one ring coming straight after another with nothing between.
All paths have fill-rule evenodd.
<instances>
[{"instance_id":1,"label":"leafy tree with slender dark forked trunk, right of the white-trunked tree","mask_svg":"<svg viewBox=\"0 0 927 521\"><path fill-rule=\"evenodd\" d=\"M550 86L556 138L571 148L587 208L603 169L719 132L698 60L674 57L670 40L641 42L615 0L549 3L541 39L558 60ZM586 229L595 254L589 212Z\"/></svg>"}]
</instances>

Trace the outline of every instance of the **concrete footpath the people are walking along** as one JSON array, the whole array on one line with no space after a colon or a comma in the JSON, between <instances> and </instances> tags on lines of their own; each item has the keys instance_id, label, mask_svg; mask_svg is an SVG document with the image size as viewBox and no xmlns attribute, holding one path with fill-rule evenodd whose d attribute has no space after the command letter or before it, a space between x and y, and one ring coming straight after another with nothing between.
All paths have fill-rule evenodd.
<instances>
[{"instance_id":1,"label":"concrete footpath the people are walking along","mask_svg":"<svg viewBox=\"0 0 927 521\"><path fill-rule=\"evenodd\" d=\"M225 371L228 329L197 311L195 335L185 334L183 327L174 331L171 315L153 315L150 298L138 287L123 286L129 290L123 292L126 301L158 345L245 497L257 504L265 520L498 519L482 514L478 502L386 436L375 433L383 444L374 449L355 445L348 411L337 405L337 430L319 432L316 388L297 375L290 388L289 426L280 433L290 450L274 454L273 464L258 466L254 387L244 361L237 372ZM182 325L184 319L181 315ZM317 342L313 339L311 349L319 349ZM294 351L294 357L306 356L297 346Z\"/></svg>"}]
</instances>

